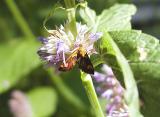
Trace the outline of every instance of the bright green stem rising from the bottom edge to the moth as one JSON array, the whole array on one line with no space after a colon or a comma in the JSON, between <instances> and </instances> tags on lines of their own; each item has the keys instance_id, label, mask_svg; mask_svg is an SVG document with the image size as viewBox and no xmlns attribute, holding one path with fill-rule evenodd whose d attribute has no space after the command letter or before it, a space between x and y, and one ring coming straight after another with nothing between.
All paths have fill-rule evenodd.
<instances>
[{"instance_id":1,"label":"bright green stem rising from the bottom edge to the moth","mask_svg":"<svg viewBox=\"0 0 160 117\"><path fill-rule=\"evenodd\" d=\"M86 90L87 96L89 98L89 101L91 103L92 108L94 109L94 112L97 117L104 117L103 111L101 109L101 106L99 104L97 94L95 92L92 78L90 75L86 75L85 73L81 72L81 80L84 85L84 88Z\"/></svg>"}]
</instances>

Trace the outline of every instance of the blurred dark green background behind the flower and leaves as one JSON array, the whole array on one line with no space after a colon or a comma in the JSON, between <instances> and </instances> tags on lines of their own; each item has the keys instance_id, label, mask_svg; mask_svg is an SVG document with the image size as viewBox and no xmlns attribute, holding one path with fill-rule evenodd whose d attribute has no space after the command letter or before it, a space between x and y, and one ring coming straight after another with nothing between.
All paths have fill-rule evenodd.
<instances>
[{"instance_id":1,"label":"blurred dark green background behind the flower and leaves","mask_svg":"<svg viewBox=\"0 0 160 117\"><path fill-rule=\"evenodd\" d=\"M90 105L79 71L57 76L55 71L47 71L36 55L40 46L37 37L46 35L42 23L56 2L0 1L0 117L20 117L19 113L32 113L32 109L37 117L93 116L87 110ZM135 4L138 10L132 18L133 28L160 38L159 0L88 0L97 14L116 3ZM58 11L47 24L54 28L65 18Z\"/></svg>"}]
</instances>

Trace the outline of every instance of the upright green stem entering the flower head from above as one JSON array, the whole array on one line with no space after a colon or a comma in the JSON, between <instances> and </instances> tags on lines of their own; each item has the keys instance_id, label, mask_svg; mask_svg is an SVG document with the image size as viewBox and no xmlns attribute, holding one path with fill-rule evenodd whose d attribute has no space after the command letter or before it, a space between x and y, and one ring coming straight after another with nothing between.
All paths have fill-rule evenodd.
<instances>
[{"instance_id":1,"label":"upright green stem entering the flower head from above","mask_svg":"<svg viewBox=\"0 0 160 117\"><path fill-rule=\"evenodd\" d=\"M76 38L77 36L77 28L76 28L76 8L75 8L75 0L64 0L65 5L66 5L66 11L68 15L68 25L69 29L71 30L72 34Z\"/></svg>"}]
</instances>

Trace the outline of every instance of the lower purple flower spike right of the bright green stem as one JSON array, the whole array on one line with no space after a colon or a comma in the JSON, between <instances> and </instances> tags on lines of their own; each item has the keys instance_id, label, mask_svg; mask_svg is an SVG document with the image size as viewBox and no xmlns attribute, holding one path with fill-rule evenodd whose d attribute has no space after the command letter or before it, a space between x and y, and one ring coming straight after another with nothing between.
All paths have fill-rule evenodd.
<instances>
[{"instance_id":1,"label":"lower purple flower spike right of the bright green stem","mask_svg":"<svg viewBox=\"0 0 160 117\"><path fill-rule=\"evenodd\" d=\"M95 72L94 80L98 84L97 93L108 101L106 113L109 117L128 117L128 107L124 101L124 88L115 78L112 70L103 65L105 74Z\"/></svg>"}]
</instances>

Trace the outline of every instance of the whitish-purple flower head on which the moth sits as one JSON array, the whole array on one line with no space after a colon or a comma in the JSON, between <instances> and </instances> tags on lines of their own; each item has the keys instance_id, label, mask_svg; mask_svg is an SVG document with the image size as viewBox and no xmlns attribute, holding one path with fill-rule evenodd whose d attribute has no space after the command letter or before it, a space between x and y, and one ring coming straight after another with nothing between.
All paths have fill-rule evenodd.
<instances>
[{"instance_id":1,"label":"whitish-purple flower head on which the moth sits","mask_svg":"<svg viewBox=\"0 0 160 117\"><path fill-rule=\"evenodd\" d=\"M67 28L67 25L61 25L56 30L48 30L49 36L47 38L39 38L43 44L38 50L41 59L49 65L59 65L62 62L66 64L66 59L80 45L83 46L87 54L94 53L94 42L102 36L102 33L91 33L90 29L81 23L77 23L76 27L76 37Z\"/></svg>"}]
</instances>

